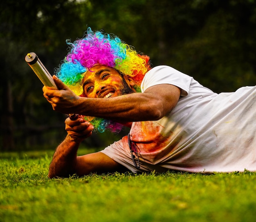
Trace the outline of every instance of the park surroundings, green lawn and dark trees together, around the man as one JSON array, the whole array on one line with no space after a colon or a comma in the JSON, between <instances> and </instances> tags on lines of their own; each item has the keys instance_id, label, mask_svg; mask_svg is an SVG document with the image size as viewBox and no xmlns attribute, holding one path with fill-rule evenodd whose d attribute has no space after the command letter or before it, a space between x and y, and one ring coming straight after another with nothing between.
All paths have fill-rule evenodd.
<instances>
[{"instance_id":1,"label":"park surroundings, green lawn and dark trees together, around the man","mask_svg":"<svg viewBox=\"0 0 256 222\"><path fill-rule=\"evenodd\" d=\"M47 177L66 136L67 116L52 110L25 56L50 74L92 27L114 33L193 76L213 92L256 85L255 0L32 0L0 3L0 221L253 222L256 172L91 173ZM93 133L85 155L127 135Z\"/></svg>"}]
</instances>

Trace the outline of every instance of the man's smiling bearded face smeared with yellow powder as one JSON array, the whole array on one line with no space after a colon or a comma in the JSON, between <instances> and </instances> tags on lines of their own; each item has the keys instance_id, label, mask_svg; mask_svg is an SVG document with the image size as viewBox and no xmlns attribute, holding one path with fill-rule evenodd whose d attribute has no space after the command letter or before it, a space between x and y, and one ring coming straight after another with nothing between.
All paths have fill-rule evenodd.
<instances>
[{"instance_id":1,"label":"man's smiling bearded face smeared with yellow powder","mask_svg":"<svg viewBox=\"0 0 256 222\"><path fill-rule=\"evenodd\" d=\"M83 78L83 92L90 98L109 98L136 92L134 81L106 65L95 65Z\"/></svg>"}]
</instances>

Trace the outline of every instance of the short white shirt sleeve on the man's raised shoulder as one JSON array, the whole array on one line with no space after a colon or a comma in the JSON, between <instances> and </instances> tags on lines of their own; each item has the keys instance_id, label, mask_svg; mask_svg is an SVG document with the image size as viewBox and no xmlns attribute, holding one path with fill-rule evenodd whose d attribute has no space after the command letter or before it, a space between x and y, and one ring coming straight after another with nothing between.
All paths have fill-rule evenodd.
<instances>
[{"instance_id":1,"label":"short white shirt sleeve on the man's raised shoulder","mask_svg":"<svg viewBox=\"0 0 256 222\"><path fill-rule=\"evenodd\" d=\"M181 96L189 94L192 77L167 65L159 65L149 70L141 83L141 92L153 85L171 84L181 89Z\"/></svg>"}]
</instances>

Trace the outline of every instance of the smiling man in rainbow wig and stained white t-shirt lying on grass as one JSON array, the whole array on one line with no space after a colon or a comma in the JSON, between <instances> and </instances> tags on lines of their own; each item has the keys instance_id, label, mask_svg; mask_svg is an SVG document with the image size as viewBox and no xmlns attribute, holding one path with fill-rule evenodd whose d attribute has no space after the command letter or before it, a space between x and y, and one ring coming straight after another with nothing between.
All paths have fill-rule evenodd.
<instances>
[{"instance_id":1,"label":"smiling man in rainbow wig and stained white t-shirt lying on grass","mask_svg":"<svg viewBox=\"0 0 256 222\"><path fill-rule=\"evenodd\" d=\"M43 88L54 110L80 114L65 121L67 137L54 153L50 178L124 169L256 170L256 87L216 94L172 67L151 69L147 56L90 28L71 45L60 79L54 76L58 90ZM119 124L131 127L128 136L77 157L95 128Z\"/></svg>"}]
</instances>

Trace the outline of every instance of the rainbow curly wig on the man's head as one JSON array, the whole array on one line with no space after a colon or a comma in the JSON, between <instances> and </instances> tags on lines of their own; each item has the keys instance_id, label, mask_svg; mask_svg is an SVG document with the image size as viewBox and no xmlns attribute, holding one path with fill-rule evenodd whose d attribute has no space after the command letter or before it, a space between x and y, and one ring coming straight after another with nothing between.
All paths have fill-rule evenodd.
<instances>
[{"instance_id":1,"label":"rainbow curly wig on the man's head","mask_svg":"<svg viewBox=\"0 0 256 222\"><path fill-rule=\"evenodd\" d=\"M55 70L56 76L61 79L78 96L83 95L83 77L85 72L97 64L115 68L119 73L131 76L136 84L135 89L140 91L141 81L150 70L149 57L138 54L135 49L113 34L104 34L102 31L92 31L89 27L82 39L74 43L67 40L70 52ZM119 131L119 126L106 119L85 117L99 132L106 129Z\"/></svg>"}]
</instances>

